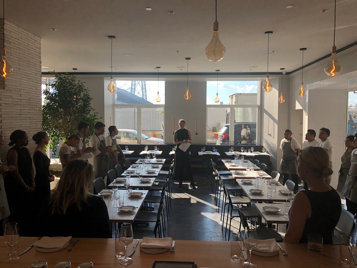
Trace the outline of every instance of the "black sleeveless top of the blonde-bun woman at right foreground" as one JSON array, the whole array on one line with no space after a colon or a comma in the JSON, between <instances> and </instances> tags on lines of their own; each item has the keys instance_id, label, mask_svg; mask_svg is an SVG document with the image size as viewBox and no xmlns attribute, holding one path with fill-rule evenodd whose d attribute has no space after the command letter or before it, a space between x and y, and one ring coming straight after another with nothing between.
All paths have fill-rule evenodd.
<instances>
[{"instance_id":1,"label":"black sleeveless top of the blonde-bun woman at right foreground","mask_svg":"<svg viewBox=\"0 0 357 268\"><path fill-rule=\"evenodd\" d=\"M341 216L341 198L335 189L331 189L328 192L301 191L310 201L311 217L306 219L299 243L307 243L309 233L318 233L324 244L332 244L333 230Z\"/></svg>"}]
</instances>

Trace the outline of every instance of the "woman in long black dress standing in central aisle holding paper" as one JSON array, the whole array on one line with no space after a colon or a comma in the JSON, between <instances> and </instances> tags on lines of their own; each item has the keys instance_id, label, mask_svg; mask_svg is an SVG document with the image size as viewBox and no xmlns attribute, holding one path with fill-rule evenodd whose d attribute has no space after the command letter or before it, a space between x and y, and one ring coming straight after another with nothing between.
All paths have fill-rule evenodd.
<instances>
[{"instance_id":1,"label":"woman in long black dress standing in central aisle holding paper","mask_svg":"<svg viewBox=\"0 0 357 268\"><path fill-rule=\"evenodd\" d=\"M174 133L174 144L177 144L174 162L174 179L179 180L180 183L178 184L178 187L182 187L182 180L186 178L186 180L191 181L190 187L196 189L191 170L190 150L187 149L186 152L183 152L180 149L182 143L192 143L191 132L190 130L185 129L185 120L180 119L178 125L180 126L180 129L176 130Z\"/></svg>"}]
</instances>

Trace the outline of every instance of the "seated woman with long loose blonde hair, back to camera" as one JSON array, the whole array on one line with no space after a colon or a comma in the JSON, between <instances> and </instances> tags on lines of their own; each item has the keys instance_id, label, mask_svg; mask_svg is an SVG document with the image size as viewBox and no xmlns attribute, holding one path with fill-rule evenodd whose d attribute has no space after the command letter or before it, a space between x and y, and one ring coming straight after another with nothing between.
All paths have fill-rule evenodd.
<instances>
[{"instance_id":1,"label":"seated woman with long loose blonde hair, back to camera","mask_svg":"<svg viewBox=\"0 0 357 268\"><path fill-rule=\"evenodd\" d=\"M111 238L106 204L89 193L92 181L91 164L74 160L66 165L49 203L42 204L40 235Z\"/></svg>"}]
</instances>

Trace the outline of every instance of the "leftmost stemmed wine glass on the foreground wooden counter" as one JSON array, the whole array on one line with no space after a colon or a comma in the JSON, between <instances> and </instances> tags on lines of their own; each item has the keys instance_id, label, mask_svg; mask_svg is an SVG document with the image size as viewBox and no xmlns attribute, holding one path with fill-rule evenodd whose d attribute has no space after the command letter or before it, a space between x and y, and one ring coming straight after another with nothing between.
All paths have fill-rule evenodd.
<instances>
[{"instance_id":1,"label":"leftmost stemmed wine glass on the foreground wooden counter","mask_svg":"<svg viewBox=\"0 0 357 268\"><path fill-rule=\"evenodd\" d=\"M20 260L19 257L19 228L16 222L10 222L5 225L4 231L5 244L10 246L10 252L7 254L10 256L6 263L14 263Z\"/></svg>"}]
</instances>

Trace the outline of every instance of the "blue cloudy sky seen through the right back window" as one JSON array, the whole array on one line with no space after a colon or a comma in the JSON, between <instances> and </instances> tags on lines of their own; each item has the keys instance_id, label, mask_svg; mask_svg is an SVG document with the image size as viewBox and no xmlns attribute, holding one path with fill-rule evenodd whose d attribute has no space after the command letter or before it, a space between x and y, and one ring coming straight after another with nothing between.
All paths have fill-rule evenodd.
<instances>
[{"instance_id":1,"label":"blue cloudy sky seen through the right back window","mask_svg":"<svg viewBox=\"0 0 357 268\"><path fill-rule=\"evenodd\" d=\"M218 81L218 98L229 104L229 95L234 93L257 93L258 81ZM217 81L207 81L207 104L216 104Z\"/></svg>"}]
</instances>

